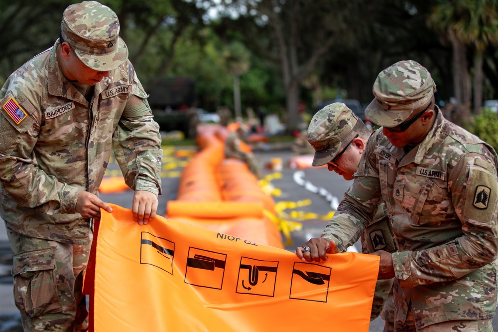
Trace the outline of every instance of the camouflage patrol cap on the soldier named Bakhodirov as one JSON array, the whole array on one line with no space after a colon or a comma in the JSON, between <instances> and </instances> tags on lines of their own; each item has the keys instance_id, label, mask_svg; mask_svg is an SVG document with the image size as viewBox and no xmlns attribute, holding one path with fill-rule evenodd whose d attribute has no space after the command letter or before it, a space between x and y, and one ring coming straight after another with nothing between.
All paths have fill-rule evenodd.
<instances>
[{"instance_id":1,"label":"camouflage patrol cap on the soldier named Bakhodirov","mask_svg":"<svg viewBox=\"0 0 498 332\"><path fill-rule=\"evenodd\" d=\"M126 61L128 49L119 33L116 13L97 1L71 4L62 14L62 38L92 69L112 70Z\"/></svg>"}]
</instances>

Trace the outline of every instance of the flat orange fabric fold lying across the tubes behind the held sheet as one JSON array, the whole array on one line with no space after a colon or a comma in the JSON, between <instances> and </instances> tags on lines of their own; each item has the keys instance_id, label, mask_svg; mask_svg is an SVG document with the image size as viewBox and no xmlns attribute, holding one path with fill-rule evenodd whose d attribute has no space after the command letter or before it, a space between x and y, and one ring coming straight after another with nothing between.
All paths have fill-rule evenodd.
<instances>
[{"instance_id":1,"label":"flat orange fabric fold lying across the tubes behind the held sheet","mask_svg":"<svg viewBox=\"0 0 498 332\"><path fill-rule=\"evenodd\" d=\"M166 215L169 218L176 216L189 216L196 218L233 218L249 216L261 218L263 204L261 203L236 203L236 202L185 202L170 200L167 202Z\"/></svg>"}]
</instances>

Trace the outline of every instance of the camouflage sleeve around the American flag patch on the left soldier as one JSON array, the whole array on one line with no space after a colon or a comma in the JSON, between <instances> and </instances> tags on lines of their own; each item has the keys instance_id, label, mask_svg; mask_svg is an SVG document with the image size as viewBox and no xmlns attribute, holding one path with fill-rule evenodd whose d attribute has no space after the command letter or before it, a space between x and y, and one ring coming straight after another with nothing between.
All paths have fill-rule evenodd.
<instances>
[{"instance_id":1,"label":"camouflage sleeve around the American flag patch on the left soldier","mask_svg":"<svg viewBox=\"0 0 498 332\"><path fill-rule=\"evenodd\" d=\"M25 113L16 123L2 111L0 115L0 179L3 189L19 206L46 214L74 213L80 189L62 183L38 165L34 149L40 128L39 111L21 93L14 95L4 84L0 104L14 100Z\"/></svg>"}]
</instances>

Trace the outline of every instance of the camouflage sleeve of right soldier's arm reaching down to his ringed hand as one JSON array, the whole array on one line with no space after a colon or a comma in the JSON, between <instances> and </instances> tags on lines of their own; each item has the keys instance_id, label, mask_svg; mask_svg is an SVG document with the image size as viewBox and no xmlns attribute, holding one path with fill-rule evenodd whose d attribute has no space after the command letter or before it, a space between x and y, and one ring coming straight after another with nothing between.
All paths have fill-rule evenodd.
<instances>
[{"instance_id":1,"label":"camouflage sleeve of right soldier's arm reaching down to his ringed hand","mask_svg":"<svg viewBox=\"0 0 498 332\"><path fill-rule=\"evenodd\" d=\"M344 194L344 199L321 235L335 241L339 252L345 252L358 241L381 202L376 157L373 154L375 145L373 135L362 155L353 185Z\"/></svg>"}]
</instances>

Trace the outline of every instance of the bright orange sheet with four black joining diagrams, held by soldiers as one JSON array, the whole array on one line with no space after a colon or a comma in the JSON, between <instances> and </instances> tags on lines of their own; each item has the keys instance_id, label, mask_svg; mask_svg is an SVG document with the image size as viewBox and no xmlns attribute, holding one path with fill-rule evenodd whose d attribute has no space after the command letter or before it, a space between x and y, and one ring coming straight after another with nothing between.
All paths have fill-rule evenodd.
<instances>
[{"instance_id":1,"label":"bright orange sheet with four black joining diagrams, held by soldiers","mask_svg":"<svg viewBox=\"0 0 498 332\"><path fill-rule=\"evenodd\" d=\"M85 293L90 331L366 332L378 256L320 264L245 237L111 204L96 223ZM90 290L90 292L89 292Z\"/></svg>"}]
</instances>

